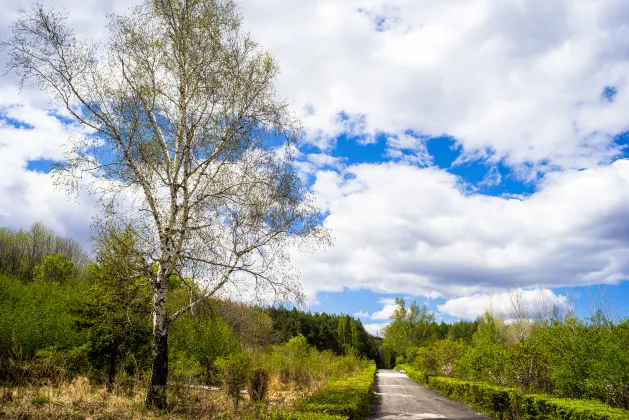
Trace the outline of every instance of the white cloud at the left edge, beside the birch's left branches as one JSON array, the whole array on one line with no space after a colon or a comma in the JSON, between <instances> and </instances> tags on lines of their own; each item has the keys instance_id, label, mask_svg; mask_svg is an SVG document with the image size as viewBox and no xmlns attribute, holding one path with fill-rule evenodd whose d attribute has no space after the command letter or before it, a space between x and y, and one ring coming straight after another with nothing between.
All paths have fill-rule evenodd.
<instances>
[{"instance_id":1,"label":"white cloud at the left edge, beside the birch's left branches","mask_svg":"<svg viewBox=\"0 0 629 420\"><path fill-rule=\"evenodd\" d=\"M50 175L27 170L30 161L58 161L62 145L77 127L50 110L31 105L0 107L0 225L28 227L41 221L60 234L87 240L95 214L94 200L66 196Z\"/></svg>"}]
</instances>

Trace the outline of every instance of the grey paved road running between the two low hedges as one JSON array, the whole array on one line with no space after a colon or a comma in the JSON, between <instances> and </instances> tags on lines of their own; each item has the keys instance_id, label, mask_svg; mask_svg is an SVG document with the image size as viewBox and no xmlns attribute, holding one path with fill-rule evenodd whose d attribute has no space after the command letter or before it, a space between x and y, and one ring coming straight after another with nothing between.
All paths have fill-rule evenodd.
<instances>
[{"instance_id":1,"label":"grey paved road running between the two low hedges","mask_svg":"<svg viewBox=\"0 0 629 420\"><path fill-rule=\"evenodd\" d=\"M379 369L370 419L487 420L465 404L452 401L396 370Z\"/></svg>"}]
</instances>

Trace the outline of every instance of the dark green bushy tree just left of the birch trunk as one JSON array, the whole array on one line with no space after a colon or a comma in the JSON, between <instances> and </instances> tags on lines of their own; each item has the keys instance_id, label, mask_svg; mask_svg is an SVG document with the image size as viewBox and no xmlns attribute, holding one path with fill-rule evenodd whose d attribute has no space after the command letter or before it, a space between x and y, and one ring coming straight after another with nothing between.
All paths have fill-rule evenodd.
<instances>
[{"instance_id":1,"label":"dark green bushy tree just left of the birch trunk","mask_svg":"<svg viewBox=\"0 0 629 420\"><path fill-rule=\"evenodd\" d=\"M73 309L76 328L95 369L107 370L111 390L120 360L146 366L150 351L151 294L144 267L135 261L130 231L108 232L97 247L97 262L85 270L88 288Z\"/></svg>"}]
</instances>

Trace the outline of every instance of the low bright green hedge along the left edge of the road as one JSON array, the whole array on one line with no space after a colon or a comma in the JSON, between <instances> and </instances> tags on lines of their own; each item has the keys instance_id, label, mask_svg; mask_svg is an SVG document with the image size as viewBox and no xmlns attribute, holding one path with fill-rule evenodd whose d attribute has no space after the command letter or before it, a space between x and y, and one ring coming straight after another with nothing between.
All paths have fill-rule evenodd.
<instances>
[{"instance_id":1,"label":"low bright green hedge along the left edge of the road","mask_svg":"<svg viewBox=\"0 0 629 420\"><path fill-rule=\"evenodd\" d=\"M371 364L354 376L330 381L305 401L299 411L339 415L349 420L364 419L373 398L375 375L376 365Z\"/></svg>"}]
</instances>

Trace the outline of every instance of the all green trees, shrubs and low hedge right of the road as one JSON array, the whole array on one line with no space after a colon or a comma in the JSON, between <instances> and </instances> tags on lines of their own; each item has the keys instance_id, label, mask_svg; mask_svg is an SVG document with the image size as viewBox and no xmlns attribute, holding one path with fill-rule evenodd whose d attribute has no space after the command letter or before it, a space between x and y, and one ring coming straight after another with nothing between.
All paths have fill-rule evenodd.
<instances>
[{"instance_id":1,"label":"all green trees, shrubs and low hedge right of the road","mask_svg":"<svg viewBox=\"0 0 629 420\"><path fill-rule=\"evenodd\" d=\"M486 312L446 330L399 299L384 346L412 379L494 418L629 418L629 320L604 302L587 319L570 308L530 319L517 294L509 322Z\"/></svg>"}]
</instances>

